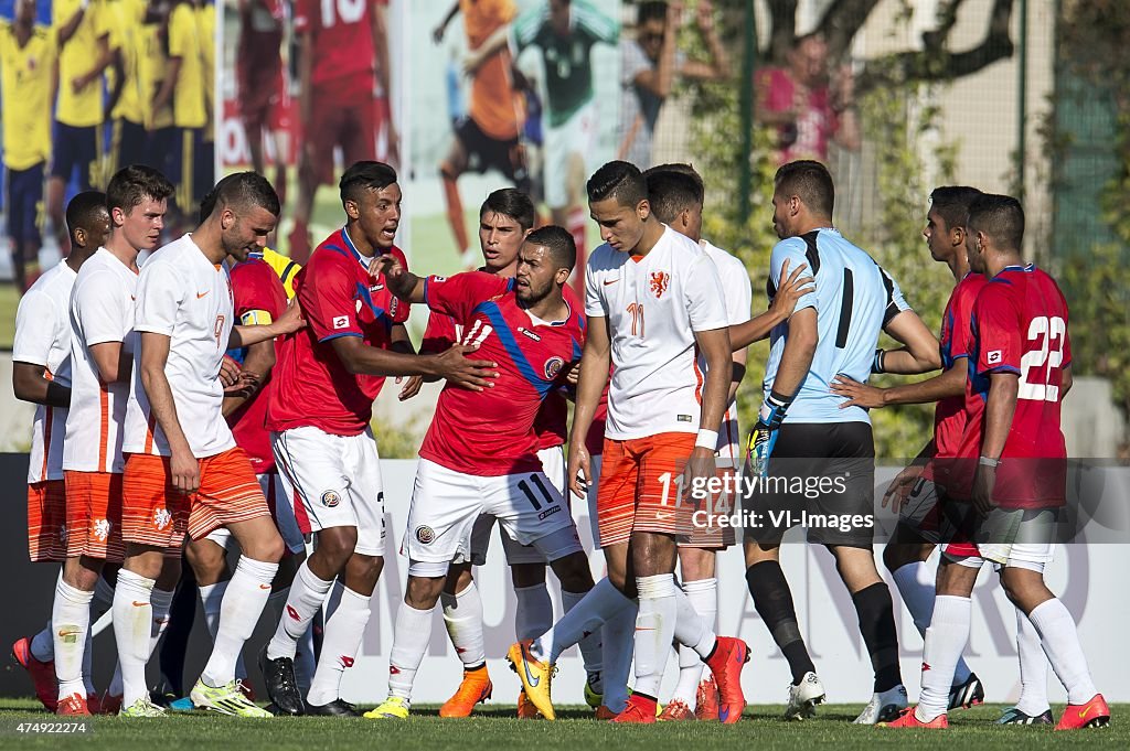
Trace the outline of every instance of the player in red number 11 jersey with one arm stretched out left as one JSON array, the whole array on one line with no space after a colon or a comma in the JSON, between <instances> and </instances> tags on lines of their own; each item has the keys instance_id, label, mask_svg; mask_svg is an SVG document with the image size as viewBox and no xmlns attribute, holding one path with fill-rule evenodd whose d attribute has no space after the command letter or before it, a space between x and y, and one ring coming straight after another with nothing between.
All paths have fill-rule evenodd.
<instances>
[{"instance_id":1,"label":"player in red number 11 jersey with one arm stretched out left","mask_svg":"<svg viewBox=\"0 0 1130 751\"><path fill-rule=\"evenodd\" d=\"M384 257L390 288L425 302L463 328L462 340L498 363L493 388L471 392L449 384L420 447L416 486L401 552L408 556L405 602L389 661L389 698L365 716L408 716L412 682L427 649L432 610L449 566L467 548L479 514L495 516L519 543L549 561L566 597L592 588L568 504L546 477L537 455L534 419L546 394L564 385L581 357L584 316L563 289L576 246L562 227L525 238L513 279L480 272L419 279ZM553 714L546 716L553 719Z\"/></svg>"}]
</instances>

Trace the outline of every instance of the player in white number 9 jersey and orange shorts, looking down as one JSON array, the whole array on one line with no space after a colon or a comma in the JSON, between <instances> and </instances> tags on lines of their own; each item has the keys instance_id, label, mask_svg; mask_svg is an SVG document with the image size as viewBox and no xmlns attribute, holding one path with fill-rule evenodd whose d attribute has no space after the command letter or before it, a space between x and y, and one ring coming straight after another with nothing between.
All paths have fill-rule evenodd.
<instances>
[{"instance_id":1,"label":"player in white number 9 jersey and orange shorts, looking down","mask_svg":"<svg viewBox=\"0 0 1130 751\"><path fill-rule=\"evenodd\" d=\"M197 232L165 245L138 282L138 347L122 449L127 557L114 592L114 635L123 704L160 715L149 702L148 626L132 613L149 606L165 550L226 526L242 556L220 608L216 644L192 689L192 702L242 717L270 713L249 701L235 679L236 657L271 591L282 539L243 449L221 413L217 374L229 347L250 347L301 325L297 311L261 326L233 325L232 282L224 262L245 261L275 228L279 201L270 183L237 173L216 186L216 208ZM138 696L140 695L140 696Z\"/></svg>"}]
</instances>

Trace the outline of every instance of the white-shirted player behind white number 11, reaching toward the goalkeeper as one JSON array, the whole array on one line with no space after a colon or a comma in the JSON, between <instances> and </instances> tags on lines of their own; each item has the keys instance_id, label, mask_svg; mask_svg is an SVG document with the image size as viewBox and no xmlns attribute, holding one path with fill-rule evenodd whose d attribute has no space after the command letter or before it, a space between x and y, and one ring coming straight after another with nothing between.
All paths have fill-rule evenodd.
<instances>
[{"instance_id":1,"label":"white-shirted player behind white number 11, reaching toward the goalkeeper","mask_svg":"<svg viewBox=\"0 0 1130 751\"><path fill-rule=\"evenodd\" d=\"M668 164L644 172L647 181L647 200L655 217L681 235L686 235L706 252L718 267L725 296L727 317L733 347L733 374L727 395L727 409L714 452L720 477L733 477L739 468L738 386L746 374L746 348L749 342L768 335L770 330L786 320L797 300L809 289L807 267L800 264L789 282L773 299L768 311L750 321L749 308L753 289L745 264L702 237L703 201L702 177L694 167ZM701 367L705 364L699 361ZM734 544L733 527L716 524L718 515L728 515L732 497L721 495L704 508L705 516L692 518L678 534L680 582L695 611L711 626L718 615L718 579L715 557L719 550ZM694 649L680 645L679 681L675 693L663 707L660 721L718 719L718 684L713 678L701 681L703 663Z\"/></svg>"}]
</instances>

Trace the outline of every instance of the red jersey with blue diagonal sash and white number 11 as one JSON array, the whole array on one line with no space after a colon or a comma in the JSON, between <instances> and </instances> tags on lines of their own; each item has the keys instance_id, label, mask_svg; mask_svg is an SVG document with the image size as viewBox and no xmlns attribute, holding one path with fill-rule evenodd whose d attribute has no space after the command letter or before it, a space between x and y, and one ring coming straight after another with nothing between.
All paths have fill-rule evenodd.
<instances>
[{"instance_id":1,"label":"red jersey with blue diagonal sash and white number 11","mask_svg":"<svg viewBox=\"0 0 1130 751\"><path fill-rule=\"evenodd\" d=\"M533 423L546 396L581 358L585 323L575 298L564 321L538 321L513 288L513 279L477 271L425 280L428 307L451 316L462 328L461 342L478 344L470 357L497 363L499 375L485 391L443 390L423 459L477 477L541 469Z\"/></svg>"}]
</instances>

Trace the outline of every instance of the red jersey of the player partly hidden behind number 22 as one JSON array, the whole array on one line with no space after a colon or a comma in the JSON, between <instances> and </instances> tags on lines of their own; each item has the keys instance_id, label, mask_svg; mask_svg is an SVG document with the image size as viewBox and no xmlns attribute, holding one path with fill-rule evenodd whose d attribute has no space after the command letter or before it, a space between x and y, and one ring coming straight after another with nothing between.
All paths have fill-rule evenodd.
<instances>
[{"instance_id":1,"label":"red jersey of the player partly hidden behind number 22","mask_svg":"<svg viewBox=\"0 0 1130 751\"><path fill-rule=\"evenodd\" d=\"M984 286L984 274L970 272L957 282L949 295L949 302L946 303L946 311L941 316L939 338L942 370L948 370L957 360L970 356L972 343L970 320L973 317L973 303ZM947 396L938 401L933 410L936 451L933 461L922 471L923 478L941 486L947 483L953 462L946 460L953 460L958 455L966 420L965 396Z\"/></svg>"}]
</instances>

